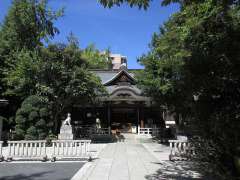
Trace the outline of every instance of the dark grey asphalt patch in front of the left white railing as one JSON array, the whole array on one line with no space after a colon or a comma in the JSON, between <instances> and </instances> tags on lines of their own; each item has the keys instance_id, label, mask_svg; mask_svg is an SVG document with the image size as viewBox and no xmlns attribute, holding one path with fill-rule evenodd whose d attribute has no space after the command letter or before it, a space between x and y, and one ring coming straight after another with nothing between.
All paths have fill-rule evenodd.
<instances>
[{"instance_id":1,"label":"dark grey asphalt patch in front of the left white railing","mask_svg":"<svg viewBox=\"0 0 240 180\"><path fill-rule=\"evenodd\" d=\"M69 180L84 163L4 163L0 180Z\"/></svg>"}]
</instances>

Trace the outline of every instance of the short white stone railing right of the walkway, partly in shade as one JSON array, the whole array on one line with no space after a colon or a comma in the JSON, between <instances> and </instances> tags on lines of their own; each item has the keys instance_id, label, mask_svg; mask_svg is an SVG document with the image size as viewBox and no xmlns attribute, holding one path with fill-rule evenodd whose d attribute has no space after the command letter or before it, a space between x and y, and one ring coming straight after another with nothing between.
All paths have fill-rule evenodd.
<instances>
[{"instance_id":1,"label":"short white stone railing right of the walkway, partly in shade","mask_svg":"<svg viewBox=\"0 0 240 180\"><path fill-rule=\"evenodd\" d=\"M169 140L170 160L186 160L195 155L194 148L187 140Z\"/></svg>"}]
</instances>

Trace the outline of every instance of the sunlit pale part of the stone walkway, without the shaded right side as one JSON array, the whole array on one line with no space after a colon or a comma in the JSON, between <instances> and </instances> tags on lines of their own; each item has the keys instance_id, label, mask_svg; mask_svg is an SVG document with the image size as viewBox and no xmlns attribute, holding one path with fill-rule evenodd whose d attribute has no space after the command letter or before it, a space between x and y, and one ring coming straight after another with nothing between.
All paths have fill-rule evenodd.
<instances>
[{"instance_id":1,"label":"sunlit pale part of the stone walkway, without the shaded right side","mask_svg":"<svg viewBox=\"0 0 240 180\"><path fill-rule=\"evenodd\" d=\"M108 144L88 180L143 180L158 169L158 160L134 139Z\"/></svg>"}]
</instances>

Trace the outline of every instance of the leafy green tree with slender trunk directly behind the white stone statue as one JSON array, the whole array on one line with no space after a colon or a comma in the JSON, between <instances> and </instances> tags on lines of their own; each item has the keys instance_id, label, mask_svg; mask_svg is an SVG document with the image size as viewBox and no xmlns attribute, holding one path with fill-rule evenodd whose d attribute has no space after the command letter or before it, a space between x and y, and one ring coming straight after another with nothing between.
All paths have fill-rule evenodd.
<instances>
[{"instance_id":1,"label":"leafy green tree with slender trunk directly behind the white stone statue","mask_svg":"<svg viewBox=\"0 0 240 180\"><path fill-rule=\"evenodd\" d=\"M93 102L104 88L100 79L88 70L82 51L71 42L67 46L50 45L41 56L44 63L37 91L49 100L56 132L67 108Z\"/></svg>"}]
</instances>

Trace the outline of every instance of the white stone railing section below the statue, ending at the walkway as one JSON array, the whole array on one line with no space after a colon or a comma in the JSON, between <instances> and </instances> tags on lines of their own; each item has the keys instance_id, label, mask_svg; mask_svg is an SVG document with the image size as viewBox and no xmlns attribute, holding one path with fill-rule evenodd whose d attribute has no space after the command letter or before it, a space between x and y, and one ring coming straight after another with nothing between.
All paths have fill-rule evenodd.
<instances>
[{"instance_id":1,"label":"white stone railing section below the statue, ending at the walkway","mask_svg":"<svg viewBox=\"0 0 240 180\"><path fill-rule=\"evenodd\" d=\"M91 140L53 140L52 161L62 158L90 158Z\"/></svg>"}]
</instances>

